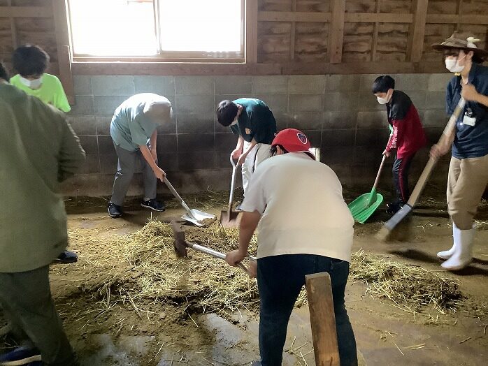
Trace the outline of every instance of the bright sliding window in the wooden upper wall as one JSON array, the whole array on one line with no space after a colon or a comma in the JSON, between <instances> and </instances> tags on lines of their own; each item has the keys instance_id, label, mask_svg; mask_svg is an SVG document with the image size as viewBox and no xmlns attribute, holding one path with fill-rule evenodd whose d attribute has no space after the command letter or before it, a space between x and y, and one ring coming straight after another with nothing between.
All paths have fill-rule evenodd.
<instances>
[{"instance_id":1,"label":"bright sliding window in the wooden upper wall","mask_svg":"<svg viewBox=\"0 0 488 366\"><path fill-rule=\"evenodd\" d=\"M68 3L76 60L244 59L244 0Z\"/></svg>"}]
</instances>

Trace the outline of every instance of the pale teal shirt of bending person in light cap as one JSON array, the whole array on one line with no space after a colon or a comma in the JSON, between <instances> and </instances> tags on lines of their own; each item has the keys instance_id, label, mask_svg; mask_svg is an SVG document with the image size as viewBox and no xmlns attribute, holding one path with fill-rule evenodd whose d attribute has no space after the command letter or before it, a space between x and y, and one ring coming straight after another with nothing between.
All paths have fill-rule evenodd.
<instances>
[{"instance_id":1,"label":"pale teal shirt of bending person in light cap","mask_svg":"<svg viewBox=\"0 0 488 366\"><path fill-rule=\"evenodd\" d=\"M117 107L110 123L110 136L115 145L134 152L148 143L158 126L144 115L145 104L151 101L169 103L164 96L142 93L131 96Z\"/></svg>"}]
</instances>

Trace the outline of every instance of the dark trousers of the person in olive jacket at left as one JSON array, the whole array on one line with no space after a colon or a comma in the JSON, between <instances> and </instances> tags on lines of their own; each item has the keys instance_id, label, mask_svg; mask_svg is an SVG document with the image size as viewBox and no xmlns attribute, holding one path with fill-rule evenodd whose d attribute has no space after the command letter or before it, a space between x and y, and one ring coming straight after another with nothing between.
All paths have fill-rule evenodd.
<instances>
[{"instance_id":1,"label":"dark trousers of the person in olive jacket at left","mask_svg":"<svg viewBox=\"0 0 488 366\"><path fill-rule=\"evenodd\" d=\"M0 305L17 342L41 351L43 365L76 366L51 298L49 266L28 272L0 272Z\"/></svg>"}]
</instances>

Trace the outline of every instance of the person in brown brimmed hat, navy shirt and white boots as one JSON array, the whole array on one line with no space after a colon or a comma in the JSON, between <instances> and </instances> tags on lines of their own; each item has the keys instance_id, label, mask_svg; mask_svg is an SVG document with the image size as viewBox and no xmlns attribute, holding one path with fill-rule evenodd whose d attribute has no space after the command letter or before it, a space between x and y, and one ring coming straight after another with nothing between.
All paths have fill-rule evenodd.
<instances>
[{"instance_id":1,"label":"person in brown brimmed hat, navy shirt and white boots","mask_svg":"<svg viewBox=\"0 0 488 366\"><path fill-rule=\"evenodd\" d=\"M478 205L488 184L488 67L482 62L486 50L479 40L454 33L443 43L432 45L443 52L447 70L454 73L447 85L447 114L451 115L461 96L466 100L456 129L443 145L433 145L431 156L438 158L452 148L447 177L447 207L452 219L453 244L440 251L446 270L461 270L473 259L473 225Z\"/></svg>"}]
</instances>

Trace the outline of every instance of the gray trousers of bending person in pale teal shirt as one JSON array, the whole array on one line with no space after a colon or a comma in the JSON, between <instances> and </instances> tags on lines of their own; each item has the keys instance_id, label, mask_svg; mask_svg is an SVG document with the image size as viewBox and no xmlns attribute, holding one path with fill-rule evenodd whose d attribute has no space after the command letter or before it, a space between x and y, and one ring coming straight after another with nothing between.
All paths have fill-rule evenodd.
<instances>
[{"instance_id":1,"label":"gray trousers of bending person in pale teal shirt","mask_svg":"<svg viewBox=\"0 0 488 366\"><path fill-rule=\"evenodd\" d=\"M156 186L157 177L145 161L141 150L130 152L129 150L122 149L115 145L115 152L119 158L117 164L117 173L115 174L115 180L113 182L111 203L115 203L117 206L122 206L124 203L125 195L129 190L129 184L131 184L132 177L136 173L137 161L141 161L143 168L143 180L144 180L144 197L153 199L156 198Z\"/></svg>"}]
</instances>

